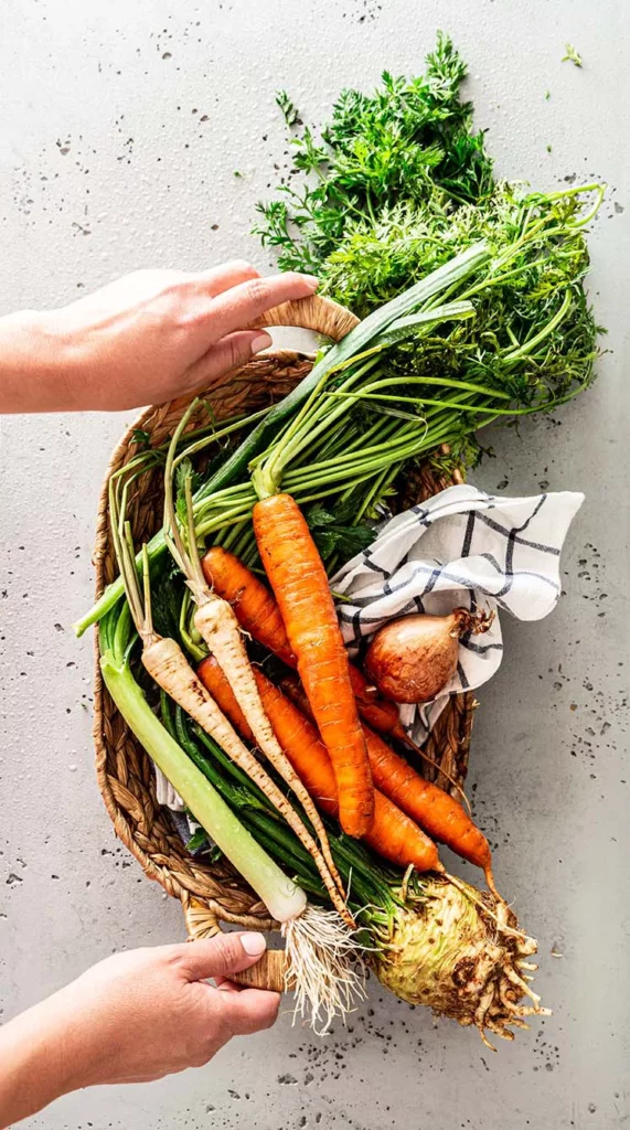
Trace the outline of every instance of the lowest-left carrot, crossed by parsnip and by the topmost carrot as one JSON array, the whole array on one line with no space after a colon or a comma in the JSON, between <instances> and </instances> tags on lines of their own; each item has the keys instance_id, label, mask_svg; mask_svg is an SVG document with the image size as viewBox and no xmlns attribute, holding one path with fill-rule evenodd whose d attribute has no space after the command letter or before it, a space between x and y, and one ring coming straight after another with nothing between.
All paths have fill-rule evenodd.
<instances>
[{"instance_id":1,"label":"lowest-left carrot, crossed by parsnip and by the topmost carrot","mask_svg":"<svg viewBox=\"0 0 630 1130\"><path fill-rule=\"evenodd\" d=\"M252 731L216 660L204 659L198 675L231 724L250 741ZM261 670L256 670L255 676L266 716L286 756L317 807L329 816L339 817L333 767L317 730ZM413 864L418 871L443 870L436 845L418 825L378 790L375 790L374 801L374 822L362 837L365 842L399 867Z\"/></svg>"}]
</instances>

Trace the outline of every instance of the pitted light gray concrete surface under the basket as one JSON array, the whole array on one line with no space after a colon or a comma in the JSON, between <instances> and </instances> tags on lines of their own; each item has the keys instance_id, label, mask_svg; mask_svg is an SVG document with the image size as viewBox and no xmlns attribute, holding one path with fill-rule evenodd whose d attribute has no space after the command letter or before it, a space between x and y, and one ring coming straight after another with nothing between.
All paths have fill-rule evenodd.
<instances>
[{"instance_id":1,"label":"pitted light gray concrete surface under the basket","mask_svg":"<svg viewBox=\"0 0 630 1130\"><path fill-rule=\"evenodd\" d=\"M628 442L630 159L625 0L5 0L2 311L61 304L140 266L247 255L254 201L285 158L273 94L310 119L344 84L417 70L437 27L470 61L498 168L615 190L592 238L610 353L590 393L520 436L495 433L475 478L515 493L584 488L566 594L507 624L480 695L476 811L501 889L540 939L554 1016L492 1055L375 988L324 1041L285 1017L204 1070L69 1096L47 1130L347 1125L353 1130L609 1130L628 1105ZM574 43L584 68L561 63ZM545 92L550 92L545 99ZM551 147L551 153L548 151ZM243 176L235 180L234 171ZM625 211L623 211L625 209ZM97 488L130 414L2 425L0 955L2 1016L100 956L183 937L177 905L116 844L96 789L90 601ZM562 954L553 957L552 949Z\"/></svg>"}]
</instances>

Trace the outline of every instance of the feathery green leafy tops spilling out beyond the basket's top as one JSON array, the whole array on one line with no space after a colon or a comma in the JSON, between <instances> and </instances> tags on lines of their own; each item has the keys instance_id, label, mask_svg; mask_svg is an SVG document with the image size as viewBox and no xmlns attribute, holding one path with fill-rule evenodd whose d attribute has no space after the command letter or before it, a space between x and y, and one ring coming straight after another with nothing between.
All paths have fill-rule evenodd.
<instances>
[{"instance_id":1,"label":"feathery green leafy tops spilling out beyond the basket's top","mask_svg":"<svg viewBox=\"0 0 630 1130\"><path fill-rule=\"evenodd\" d=\"M318 273L321 293L361 318L483 241L490 259L473 285L441 295L471 301L474 318L450 332L440 324L408 336L390 351L390 371L419 385L395 397L397 408L421 414L439 395L421 388L422 376L507 394L511 415L552 408L588 385L597 356L584 227L603 188L540 193L497 182L472 105L460 97L465 73L440 35L423 77L385 72L370 96L344 90L320 141L308 128L294 139L304 183L296 188L294 176L259 205L254 231L277 249L280 267ZM447 440L470 461L488 403L447 399L461 425ZM384 409L386 398L379 402Z\"/></svg>"}]
</instances>

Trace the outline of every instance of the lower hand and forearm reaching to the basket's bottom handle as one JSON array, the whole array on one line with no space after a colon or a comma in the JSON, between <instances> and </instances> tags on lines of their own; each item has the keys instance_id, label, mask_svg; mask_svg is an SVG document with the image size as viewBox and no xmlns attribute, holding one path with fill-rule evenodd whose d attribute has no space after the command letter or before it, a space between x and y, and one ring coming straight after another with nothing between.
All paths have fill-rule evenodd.
<instances>
[{"instance_id":1,"label":"lower hand and forearm reaching to the basket's bottom handle","mask_svg":"<svg viewBox=\"0 0 630 1130\"><path fill-rule=\"evenodd\" d=\"M115 954L9 1022L0 1028L0 1127L79 1087L201 1067L233 1036L271 1027L279 994L229 981L264 948L263 935L246 932Z\"/></svg>"}]
</instances>

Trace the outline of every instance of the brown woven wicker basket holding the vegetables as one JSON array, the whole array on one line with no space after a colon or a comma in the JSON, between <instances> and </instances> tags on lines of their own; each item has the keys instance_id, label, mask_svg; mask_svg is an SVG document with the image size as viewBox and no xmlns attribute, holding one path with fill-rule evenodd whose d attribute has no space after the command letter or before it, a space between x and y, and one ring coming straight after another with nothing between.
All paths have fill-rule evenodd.
<instances>
[{"instance_id":1,"label":"brown woven wicker basket holding the vegetables","mask_svg":"<svg viewBox=\"0 0 630 1130\"><path fill-rule=\"evenodd\" d=\"M336 304L314 297L299 303L287 303L270 311L260 324L300 325L313 329L334 340L343 337L357 319ZM244 368L225 376L220 383L205 391L218 418L234 415L235 410L264 407L283 397L309 372L312 358L304 354L279 350L263 354ZM98 524L94 564L96 594L99 597L116 576L116 560L107 518L107 483L113 471L124 466L138 447L134 428L142 428L154 444L172 435L189 400L170 401L159 408L149 408L122 437L110 462L98 507ZM190 428L199 426L193 416ZM412 505L441 490L453 481L439 469L439 459L427 461L414 477L406 476L397 504ZM161 475L148 471L137 483L129 518L134 540L148 540L161 524ZM191 938L210 937L219 930L219 922L237 923L246 928L271 929L264 905L244 881L222 866L209 867L194 859L182 843L170 812L158 806L151 763L142 747L128 729L107 690L103 686L97 663L95 677L94 737L96 744L96 772L98 785L116 835L135 855L150 879L157 879L164 889L178 898L184 911ZM456 781L465 777L473 714L472 695L454 696L431 733L427 751L444 771ZM431 771L437 783L448 786L446 777Z\"/></svg>"}]
</instances>

